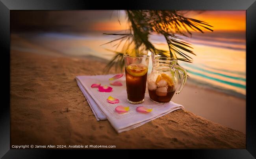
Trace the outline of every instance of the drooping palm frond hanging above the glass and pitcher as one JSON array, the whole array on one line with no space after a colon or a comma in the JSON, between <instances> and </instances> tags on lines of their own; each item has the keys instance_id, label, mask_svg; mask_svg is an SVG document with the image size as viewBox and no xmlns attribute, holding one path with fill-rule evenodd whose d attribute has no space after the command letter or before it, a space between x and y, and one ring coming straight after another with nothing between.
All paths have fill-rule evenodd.
<instances>
[{"instance_id":1,"label":"drooping palm frond hanging above the glass and pitcher","mask_svg":"<svg viewBox=\"0 0 256 159\"><path fill-rule=\"evenodd\" d=\"M124 43L122 51L116 52L117 54L109 61L106 71L109 71L114 66L116 69L117 67L123 69L124 60L122 55L129 54L129 52L145 53L150 51L152 55L162 54L191 63L193 59L188 54L196 55L191 50L193 47L189 43L182 41L177 35L189 37L192 35L191 31L199 31L201 33L204 33L204 30L213 31L210 28L213 26L208 23L187 18L176 10L126 10L126 17L130 23L128 34L104 33L117 36L117 38L108 42L119 42L114 45L115 47L119 47L121 43ZM151 34L163 35L169 51L157 49L149 40ZM177 57L177 55L182 58Z\"/></svg>"}]
</instances>

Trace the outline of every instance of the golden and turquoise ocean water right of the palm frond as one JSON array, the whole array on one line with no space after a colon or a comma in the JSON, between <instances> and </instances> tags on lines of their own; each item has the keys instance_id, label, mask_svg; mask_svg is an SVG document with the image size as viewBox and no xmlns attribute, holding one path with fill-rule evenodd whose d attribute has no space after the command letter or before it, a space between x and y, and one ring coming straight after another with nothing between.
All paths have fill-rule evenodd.
<instances>
[{"instance_id":1,"label":"golden and turquoise ocean water right of the palm frond","mask_svg":"<svg viewBox=\"0 0 256 159\"><path fill-rule=\"evenodd\" d=\"M189 81L202 87L246 98L245 32L194 33L184 38L197 55L187 53L193 63L180 61L189 74ZM151 37L158 48L168 49L165 39Z\"/></svg>"}]
</instances>

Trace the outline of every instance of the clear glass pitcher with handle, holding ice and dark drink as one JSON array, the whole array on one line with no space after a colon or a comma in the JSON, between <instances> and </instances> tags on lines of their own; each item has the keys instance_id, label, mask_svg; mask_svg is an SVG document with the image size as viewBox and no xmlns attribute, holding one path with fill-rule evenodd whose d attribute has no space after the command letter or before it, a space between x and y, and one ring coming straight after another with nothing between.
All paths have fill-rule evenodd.
<instances>
[{"instance_id":1,"label":"clear glass pitcher with handle, holding ice and dark drink","mask_svg":"<svg viewBox=\"0 0 256 159\"><path fill-rule=\"evenodd\" d=\"M181 72L181 85L176 94L179 94L187 80L187 72L183 67L176 65L177 59L154 56L152 72L148 76L148 94L156 103L171 101L178 85L178 71Z\"/></svg>"}]
</instances>

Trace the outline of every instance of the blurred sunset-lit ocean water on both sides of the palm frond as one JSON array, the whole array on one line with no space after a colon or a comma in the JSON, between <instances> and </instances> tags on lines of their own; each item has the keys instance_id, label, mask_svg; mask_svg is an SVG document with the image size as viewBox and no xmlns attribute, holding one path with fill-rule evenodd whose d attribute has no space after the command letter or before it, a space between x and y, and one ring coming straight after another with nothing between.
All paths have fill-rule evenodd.
<instances>
[{"instance_id":1,"label":"blurred sunset-lit ocean water on both sides of the palm frond","mask_svg":"<svg viewBox=\"0 0 256 159\"><path fill-rule=\"evenodd\" d=\"M68 55L92 55L107 60L115 55L107 50L115 50L114 44L102 45L112 40L113 36L102 35L102 33L24 33L17 36L30 43ZM245 32L193 33L191 38L182 38L191 43L193 52L197 55L189 55L193 58L193 63L179 61L179 64L188 72L189 82L246 98ZM169 50L164 37L152 35L150 40L158 48ZM11 43L11 47L36 52L33 48L19 43Z\"/></svg>"}]
</instances>

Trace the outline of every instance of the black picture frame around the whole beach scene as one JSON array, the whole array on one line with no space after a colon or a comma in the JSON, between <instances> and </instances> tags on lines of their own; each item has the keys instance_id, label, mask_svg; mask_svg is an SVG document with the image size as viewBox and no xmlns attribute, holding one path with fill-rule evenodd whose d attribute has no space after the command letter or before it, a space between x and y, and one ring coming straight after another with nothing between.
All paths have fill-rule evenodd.
<instances>
[{"instance_id":1,"label":"black picture frame around the whole beach scene","mask_svg":"<svg viewBox=\"0 0 256 159\"><path fill-rule=\"evenodd\" d=\"M108 6L108 8L107 8ZM10 11L11 10L73 10L73 9L176 9L176 10L246 10L246 149L240 150L164 150L169 155L192 158L254 158L256 157L256 122L253 98L253 55L256 42L255 0L140 0L122 3L82 0L0 0L0 45L2 73L2 109L0 111L0 157L48 158L53 150L10 149ZM250 70L252 70L250 72ZM9 85L7 84L9 83ZM249 104L250 103L250 104ZM61 151L62 155L70 151ZM88 151L88 150L87 150ZM136 151L136 150L135 150ZM72 152L76 152L72 150ZM80 152L80 151L79 151ZM93 150L95 153L95 151ZM107 151L104 150L104 153ZM113 150L108 150L113 153ZM138 152L138 151L137 151ZM103 154L104 154L103 153ZM158 152L159 153L159 152ZM58 155L59 157L59 155ZM128 155L127 155L128 157Z\"/></svg>"}]
</instances>

